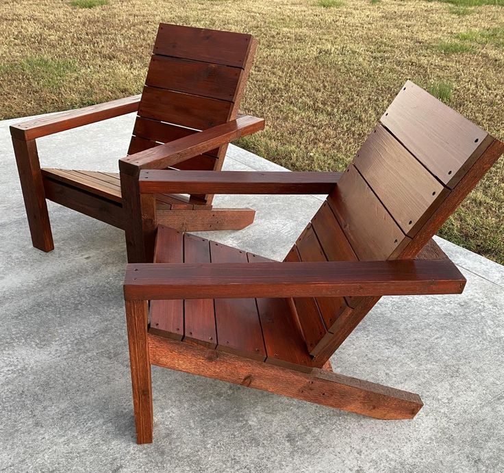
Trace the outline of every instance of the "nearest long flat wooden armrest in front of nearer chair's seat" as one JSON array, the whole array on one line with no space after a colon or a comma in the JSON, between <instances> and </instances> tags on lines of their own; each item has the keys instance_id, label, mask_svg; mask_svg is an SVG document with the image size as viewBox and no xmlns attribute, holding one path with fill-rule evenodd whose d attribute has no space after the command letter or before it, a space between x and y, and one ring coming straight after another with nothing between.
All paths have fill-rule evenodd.
<instances>
[{"instance_id":1,"label":"nearest long flat wooden armrest in front of nearer chair's seat","mask_svg":"<svg viewBox=\"0 0 504 473\"><path fill-rule=\"evenodd\" d=\"M446 260L129 264L134 299L459 294L466 279Z\"/></svg>"}]
</instances>

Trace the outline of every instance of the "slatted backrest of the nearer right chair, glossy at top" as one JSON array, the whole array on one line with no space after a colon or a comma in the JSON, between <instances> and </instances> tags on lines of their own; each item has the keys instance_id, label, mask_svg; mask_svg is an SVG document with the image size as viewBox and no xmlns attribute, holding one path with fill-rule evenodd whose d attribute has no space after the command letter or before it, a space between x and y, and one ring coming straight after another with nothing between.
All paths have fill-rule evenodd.
<instances>
[{"instance_id":1,"label":"slatted backrest of the nearer right chair, glossy at top","mask_svg":"<svg viewBox=\"0 0 504 473\"><path fill-rule=\"evenodd\" d=\"M407 81L286 261L417 257L503 152L502 142ZM378 299L294 299L315 360L323 364Z\"/></svg>"}]
</instances>

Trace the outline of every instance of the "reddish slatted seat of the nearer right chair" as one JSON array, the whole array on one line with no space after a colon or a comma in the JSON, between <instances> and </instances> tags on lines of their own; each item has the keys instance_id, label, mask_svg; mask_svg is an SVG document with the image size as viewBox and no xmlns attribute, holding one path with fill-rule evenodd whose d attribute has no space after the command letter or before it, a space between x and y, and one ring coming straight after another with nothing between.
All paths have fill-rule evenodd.
<instances>
[{"instance_id":1,"label":"reddish slatted seat of the nearer right chair","mask_svg":"<svg viewBox=\"0 0 504 473\"><path fill-rule=\"evenodd\" d=\"M157 263L271 261L197 235L158 227ZM297 370L312 370L290 298L151 301L149 332Z\"/></svg>"}]
</instances>

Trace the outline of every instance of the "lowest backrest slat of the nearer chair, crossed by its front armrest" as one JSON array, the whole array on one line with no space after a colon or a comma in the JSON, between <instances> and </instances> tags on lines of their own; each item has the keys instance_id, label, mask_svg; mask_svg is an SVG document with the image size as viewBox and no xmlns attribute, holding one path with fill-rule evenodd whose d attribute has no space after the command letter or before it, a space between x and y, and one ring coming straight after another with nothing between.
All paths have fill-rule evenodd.
<instances>
[{"instance_id":1,"label":"lowest backrest slat of the nearer chair, crossed by its front armrest","mask_svg":"<svg viewBox=\"0 0 504 473\"><path fill-rule=\"evenodd\" d=\"M285 261L301 261L296 246L286 256ZM316 347L320 347L321 342L327 342L331 334L327 331L325 323L318 309L315 298L297 297L292 299L294 308L303 331L303 337L310 355L316 355Z\"/></svg>"}]
</instances>

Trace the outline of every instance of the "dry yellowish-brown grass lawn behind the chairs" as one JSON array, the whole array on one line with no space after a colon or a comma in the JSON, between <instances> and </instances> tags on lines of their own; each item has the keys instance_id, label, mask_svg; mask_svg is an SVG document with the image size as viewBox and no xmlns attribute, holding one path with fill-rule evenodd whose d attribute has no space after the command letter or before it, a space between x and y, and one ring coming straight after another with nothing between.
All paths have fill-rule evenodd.
<instances>
[{"instance_id":1,"label":"dry yellowish-brown grass lawn behind the chairs","mask_svg":"<svg viewBox=\"0 0 504 473\"><path fill-rule=\"evenodd\" d=\"M0 118L140 92L157 23L257 36L238 142L341 170L406 79L504 138L504 0L3 0ZM440 232L504 263L504 159Z\"/></svg>"}]
</instances>

